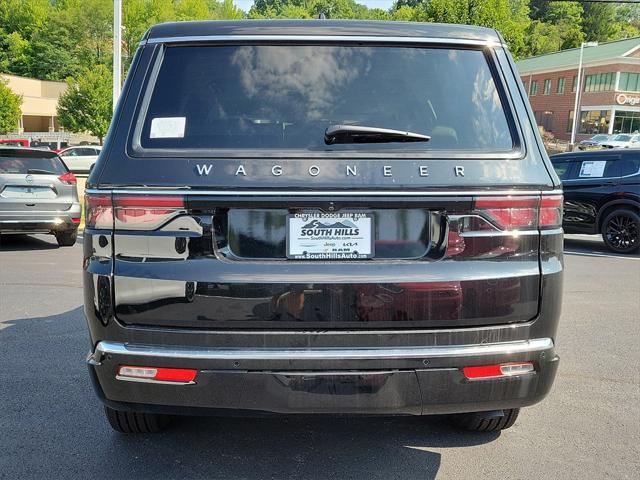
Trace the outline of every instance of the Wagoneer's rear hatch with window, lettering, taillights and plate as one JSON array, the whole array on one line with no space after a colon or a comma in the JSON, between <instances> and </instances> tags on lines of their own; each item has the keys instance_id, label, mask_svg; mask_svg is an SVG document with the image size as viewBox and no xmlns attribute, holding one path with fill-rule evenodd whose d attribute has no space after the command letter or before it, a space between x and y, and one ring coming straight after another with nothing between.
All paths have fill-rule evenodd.
<instances>
[{"instance_id":1,"label":"Wagoneer's rear hatch with window, lettering, taillights and plate","mask_svg":"<svg viewBox=\"0 0 640 480\"><path fill-rule=\"evenodd\" d=\"M113 232L120 322L372 329L536 316L540 229L559 227L561 198L543 193L550 177L523 147L533 133L515 119L502 50L144 50L153 66L136 72L149 86L127 157L108 159L107 191L87 199L88 228ZM430 140L327 140L345 125Z\"/></svg>"}]
</instances>

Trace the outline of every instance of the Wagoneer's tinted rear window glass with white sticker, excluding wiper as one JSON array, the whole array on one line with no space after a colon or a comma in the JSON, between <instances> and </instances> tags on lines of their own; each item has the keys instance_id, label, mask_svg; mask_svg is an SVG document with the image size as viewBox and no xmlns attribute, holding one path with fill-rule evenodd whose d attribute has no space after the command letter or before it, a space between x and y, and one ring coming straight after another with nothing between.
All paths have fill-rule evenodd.
<instances>
[{"instance_id":1,"label":"Wagoneer's tinted rear window glass with white sticker, excluding wiper","mask_svg":"<svg viewBox=\"0 0 640 480\"><path fill-rule=\"evenodd\" d=\"M327 145L330 125L431 136ZM513 149L480 50L354 46L167 47L140 144L148 149Z\"/></svg>"}]
</instances>

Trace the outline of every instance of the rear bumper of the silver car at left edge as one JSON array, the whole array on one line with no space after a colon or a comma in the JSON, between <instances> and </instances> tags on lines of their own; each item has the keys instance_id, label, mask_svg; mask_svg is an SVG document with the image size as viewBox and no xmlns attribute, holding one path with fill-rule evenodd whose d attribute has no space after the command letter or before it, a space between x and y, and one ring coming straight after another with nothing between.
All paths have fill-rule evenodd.
<instances>
[{"instance_id":1,"label":"rear bumper of the silver car at left edge","mask_svg":"<svg viewBox=\"0 0 640 480\"><path fill-rule=\"evenodd\" d=\"M0 212L2 233L50 233L72 230L78 227L73 219L81 215L80 204L69 210L44 212Z\"/></svg>"}]
</instances>

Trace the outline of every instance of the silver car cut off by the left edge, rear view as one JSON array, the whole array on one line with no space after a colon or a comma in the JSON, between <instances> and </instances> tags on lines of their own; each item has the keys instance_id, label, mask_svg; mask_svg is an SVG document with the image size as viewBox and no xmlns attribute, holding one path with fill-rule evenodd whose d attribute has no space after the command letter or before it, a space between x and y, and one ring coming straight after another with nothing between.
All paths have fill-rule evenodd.
<instances>
[{"instance_id":1,"label":"silver car cut off by the left edge, rear view","mask_svg":"<svg viewBox=\"0 0 640 480\"><path fill-rule=\"evenodd\" d=\"M80 217L76 177L58 155L0 147L0 234L51 233L71 246Z\"/></svg>"}]
</instances>

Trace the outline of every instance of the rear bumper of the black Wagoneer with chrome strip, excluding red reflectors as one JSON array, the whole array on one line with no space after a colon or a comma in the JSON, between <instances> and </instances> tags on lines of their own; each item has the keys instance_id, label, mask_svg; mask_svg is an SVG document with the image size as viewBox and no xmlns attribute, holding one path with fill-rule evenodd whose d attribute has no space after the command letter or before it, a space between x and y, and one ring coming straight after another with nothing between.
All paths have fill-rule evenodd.
<instances>
[{"instance_id":1,"label":"rear bumper of the black Wagoneer with chrome strip, excluding red reflectors","mask_svg":"<svg viewBox=\"0 0 640 480\"><path fill-rule=\"evenodd\" d=\"M532 361L535 371L468 380L462 367ZM376 348L187 348L99 342L88 358L113 408L164 413L446 414L523 407L549 392L558 366L549 338ZM120 365L194 368L195 383L116 379Z\"/></svg>"}]
</instances>

